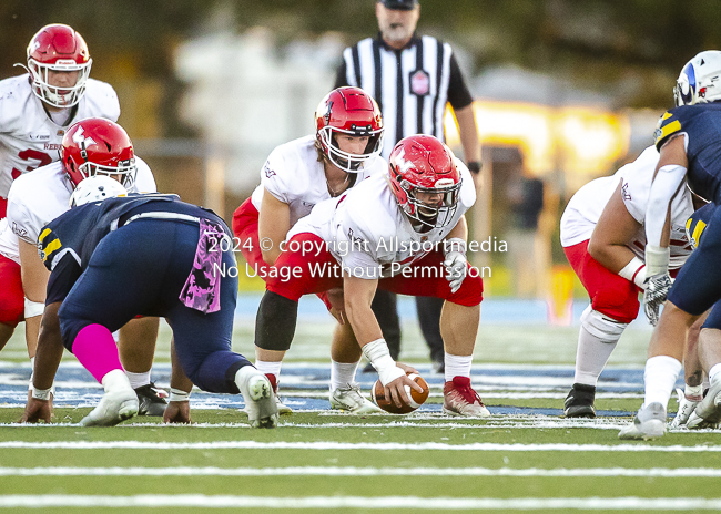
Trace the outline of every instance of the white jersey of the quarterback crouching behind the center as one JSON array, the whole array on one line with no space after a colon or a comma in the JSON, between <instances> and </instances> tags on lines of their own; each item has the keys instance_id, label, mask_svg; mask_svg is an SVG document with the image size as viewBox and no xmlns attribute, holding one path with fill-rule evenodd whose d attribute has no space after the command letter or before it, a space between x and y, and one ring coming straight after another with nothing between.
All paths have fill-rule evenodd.
<instances>
[{"instance_id":1,"label":"white jersey of the quarterback crouching behind the center","mask_svg":"<svg viewBox=\"0 0 721 514\"><path fill-rule=\"evenodd\" d=\"M367 164L367 167L358 169L354 185L358 185L370 175L388 171L388 163L383 157L376 157L364 164ZM353 175L349 174L348 178ZM315 135L291 141L271 152L261 171L261 185L251 196L251 202L258 212L264 191L290 206L291 226L303 216L307 216L316 204L331 198L323 163L318 161L318 153L315 150Z\"/></svg>"}]
</instances>

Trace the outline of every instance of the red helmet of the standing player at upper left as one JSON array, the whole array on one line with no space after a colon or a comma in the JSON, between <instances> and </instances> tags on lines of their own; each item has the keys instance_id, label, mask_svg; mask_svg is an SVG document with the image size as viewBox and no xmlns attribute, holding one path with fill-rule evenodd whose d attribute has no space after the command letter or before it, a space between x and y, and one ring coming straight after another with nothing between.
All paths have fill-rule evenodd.
<instances>
[{"instance_id":1,"label":"red helmet of the standing player at upper left","mask_svg":"<svg viewBox=\"0 0 721 514\"><path fill-rule=\"evenodd\" d=\"M92 59L82 37L68 25L45 25L28 44L28 72L35 95L54 107L70 107L85 93ZM50 72L78 72L74 85L50 84Z\"/></svg>"}]
</instances>

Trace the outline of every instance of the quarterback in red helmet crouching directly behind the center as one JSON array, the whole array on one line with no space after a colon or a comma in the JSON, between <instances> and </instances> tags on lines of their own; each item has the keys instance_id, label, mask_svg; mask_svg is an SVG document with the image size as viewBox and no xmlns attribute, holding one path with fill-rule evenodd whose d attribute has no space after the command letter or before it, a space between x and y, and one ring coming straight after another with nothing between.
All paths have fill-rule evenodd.
<instances>
[{"instance_id":1,"label":"quarterback in red helmet crouching directly behind the center","mask_svg":"<svg viewBox=\"0 0 721 514\"><path fill-rule=\"evenodd\" d=\"M281 244L314 205L334 198L367 177L385 173L383 119L378 106L358 88L328 93L315 113L315 135L275 148L261 171L261 185L233 215L233 232L253 274L267 277L281 255ZM261 244L262 241L262 244ZM332 292L331 298L337 296ZM328 295L321 298L329 310ZM267 374L277 394L283 356L256 347L255 366ZM360 354L348 325L335 327L331 346L331 407L356 414L380 412L355 383ZM277 399L281 414L291 409Z\"/></svg>"}]
</instances>

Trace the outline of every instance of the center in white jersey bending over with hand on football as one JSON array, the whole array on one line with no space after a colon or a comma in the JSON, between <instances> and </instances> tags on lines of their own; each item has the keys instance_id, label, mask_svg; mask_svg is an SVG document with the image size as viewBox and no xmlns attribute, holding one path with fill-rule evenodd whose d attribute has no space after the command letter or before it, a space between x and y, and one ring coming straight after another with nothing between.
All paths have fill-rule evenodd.
<instances>
[{"instance_id":1,"label":"center in white jersey bending over with hand on football","mask_svg":"<svg viewBox=\"0 0 721 514\"><path fill-rule=\"evenodd\" d=\"M470 172L440 141L414 135L398 142L386 173L319 203L291 229L275 267L292 270L293 279L267 279L256 347L283 356L293 340L298 299L343 287L344 319L385 394L402 405L408 402L406 388L420 392L420 387L390 357L370 309L374 294L382 288L444 298L444 412L488 415L470 386L483 282L478 273L468 273L464 213L475 199Z\"/></svg>"}]
</instances>

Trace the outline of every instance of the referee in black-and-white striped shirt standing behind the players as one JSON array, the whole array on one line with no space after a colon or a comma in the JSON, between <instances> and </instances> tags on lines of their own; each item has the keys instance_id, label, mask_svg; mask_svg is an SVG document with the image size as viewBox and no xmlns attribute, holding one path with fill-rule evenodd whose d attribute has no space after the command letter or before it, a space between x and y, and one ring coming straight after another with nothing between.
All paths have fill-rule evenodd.
<instances>
[{"instance_id":1,"label":"referee in black-and-white striped shirt standing behind the players","mask_svg":"<svg viewBox=\"0 0 721 514\"><path fill-rule=\"evenodd\" d=\"M450 103L458 121L460 144L474 178L480 172L480 144L473 111L473 97L448 43L416 34L420 16L418 0L377 0L376 17L380 32L345 49L334 88L355 85L376 100L385 126L382 155L402 138L430 134L445 141L444 113ZM423 336L430 348L437 372L444 372L440 337L443 299L416 297ZM377 291L373 310L383 328L390 356L400 352L400 322L396 296ZM364 371L373 368L366 367Z\"/></svg>"}]
</instances>

